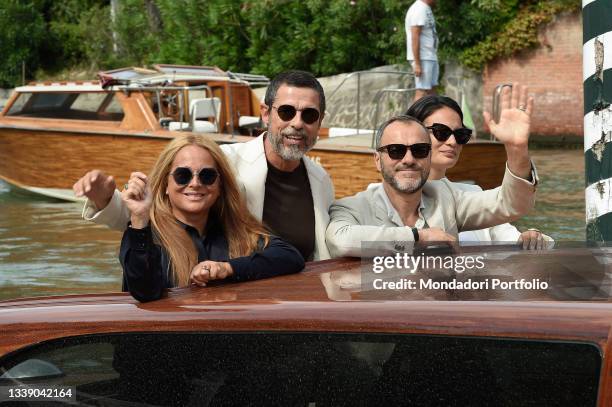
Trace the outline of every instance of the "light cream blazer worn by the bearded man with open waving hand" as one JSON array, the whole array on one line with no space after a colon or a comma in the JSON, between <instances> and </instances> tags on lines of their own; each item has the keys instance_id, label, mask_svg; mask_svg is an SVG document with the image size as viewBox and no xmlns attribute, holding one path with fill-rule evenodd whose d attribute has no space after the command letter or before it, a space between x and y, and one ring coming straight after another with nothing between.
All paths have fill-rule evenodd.
<instances>
[{"instance_id":1,"label":"light cream blazer worn by the bearded man with open waving hand","mask_svg":"<svg viewBox=\"0 0 612 407\"><path fill-rule=\"evenodd\" d=\"M535 171L532 172L537 180ZM513 175L507 168L501 187L487 191L462 191L443 181L427 181L421 211L429 227L457 236L461 231L511 222L535 204L535 184ZM414 243L410 227L389 218L382 184L334 202L330 208L327 246L333 257L361 256L363 242L377 242L383 251L409 250ZM410 246L410 247L407 247Z\"/></svg>"}]
</instances>

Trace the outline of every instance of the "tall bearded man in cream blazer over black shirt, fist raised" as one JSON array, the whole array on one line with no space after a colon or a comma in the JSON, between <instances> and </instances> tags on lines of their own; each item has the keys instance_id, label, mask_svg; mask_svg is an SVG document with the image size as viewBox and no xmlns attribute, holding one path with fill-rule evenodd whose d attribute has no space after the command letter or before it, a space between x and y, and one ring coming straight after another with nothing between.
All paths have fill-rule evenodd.
<instances>
[{"instance_id":1,"label":"tall bearded man in cream blazer over black shirt, fist raised","mask_svg":"<svg viewBox=\"0 0 612 407\"><path fill-rule=\"evenodd\" d=\"M325 94L312 74L283 72L270 82L261 105L267 132L246 143L221 146L251 213L296 246L305 260L329 258L325 229L333 185L327 172L305 155L316 143L324 112ZM134 173L130 183L143 177ZM90 171L73 189L88 198L84 219L113 229L127 227L129 213L112 177Z\"/></svg>"}]
</instances>

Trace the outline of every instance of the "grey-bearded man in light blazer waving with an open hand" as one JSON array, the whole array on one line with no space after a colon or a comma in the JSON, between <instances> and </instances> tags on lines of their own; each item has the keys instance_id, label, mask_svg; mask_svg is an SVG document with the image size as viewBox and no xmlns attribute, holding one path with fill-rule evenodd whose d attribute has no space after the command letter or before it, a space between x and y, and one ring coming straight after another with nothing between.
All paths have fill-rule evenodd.
<instances>
[{"instance_id":1,"label":"grey-bearded man in light blazer waving with an open hand","mask_svg":"<svg viewBox=\"0 0 612 407\"><path fill-rule=\"evenodd\" d=\"M529 114L533 99L526 99L526 92L521 93L519 103L515 92L512 100L506 94L504 102L515 113ZM331 255L369 255L363 242L376 242L372 247L383 251L411 252L416 242L455 246L460 231L525 215L534 206L537 184L527 149L529 126L502 130L495 132L508 157L501 187L464 192L441 181L427 181L431 140L421 122L402 115L383 123L376 134L374 158L383 182L334 202L326 233Z\"/></svg>"}]
</instances>

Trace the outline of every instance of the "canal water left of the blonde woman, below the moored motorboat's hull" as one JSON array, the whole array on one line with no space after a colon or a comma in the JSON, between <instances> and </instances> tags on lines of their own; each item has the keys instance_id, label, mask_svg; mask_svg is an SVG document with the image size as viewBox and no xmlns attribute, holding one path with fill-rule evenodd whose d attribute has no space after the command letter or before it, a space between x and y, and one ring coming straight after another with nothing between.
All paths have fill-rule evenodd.
<instances>
[{"instance_id":1,"label":"canal water left of the blonde woman, below the moored motorboat's hull","mask_svg":"<svg viewBox=\"0 0 612 407\"><path fill-rule=\"evenodd\" d=\"M0 299L121 289L121 234L0 181Z\"/></svg>"}]
</instances>

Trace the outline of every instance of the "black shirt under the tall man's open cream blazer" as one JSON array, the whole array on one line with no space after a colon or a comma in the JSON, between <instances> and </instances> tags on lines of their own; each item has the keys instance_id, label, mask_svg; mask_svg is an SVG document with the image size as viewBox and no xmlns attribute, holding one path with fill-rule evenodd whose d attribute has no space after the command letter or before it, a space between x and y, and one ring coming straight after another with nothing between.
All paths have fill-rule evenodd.
<instances>
[{"instance_id":1,"label":"black shirt under the tall man's open cream blazer","mask_svg":"<svg viewBox=\"0 0 612 407\"><path fill-rule=\"evenodd\" d=\"M268 162L263 222L272 233L312 260L315 247L314 204L304 161L293 171L281 171Z\"/></svg>"}]
</instances>

